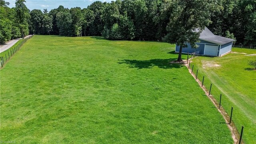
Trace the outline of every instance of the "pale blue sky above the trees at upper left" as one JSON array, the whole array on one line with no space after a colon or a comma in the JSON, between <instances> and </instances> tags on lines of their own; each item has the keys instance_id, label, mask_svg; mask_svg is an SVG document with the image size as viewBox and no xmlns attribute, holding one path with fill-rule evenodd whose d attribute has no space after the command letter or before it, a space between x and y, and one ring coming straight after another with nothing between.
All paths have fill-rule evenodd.
<instances>
[{"instance_id":1,"label":"pale blue sky above the trees at upper left","mask_svg":"<svg viewBox=\"0 0 256 144\"><path fill-rule=\"evenodd\" d=\"M10 2L9 7L15 7L15 0L5 0L6 2ZM64 6L64 8L87 8L88 5L92 4L96 0L26 0L26 6L30 10L39 9L44 10L47 8L48 11L58 8L60 5ZM111 0L99 0L102 2L111 2Z\"/></svg>"}]
</instances>

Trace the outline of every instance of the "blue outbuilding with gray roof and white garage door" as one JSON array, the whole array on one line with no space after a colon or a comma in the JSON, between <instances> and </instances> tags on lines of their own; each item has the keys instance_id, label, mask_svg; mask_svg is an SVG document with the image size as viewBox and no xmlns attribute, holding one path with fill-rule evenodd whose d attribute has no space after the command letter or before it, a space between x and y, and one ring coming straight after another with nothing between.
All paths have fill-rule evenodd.
<instances>
[{"instance_id":1,"label":"blue outbuilding with gray roof and white garage door","mask_svg":"<svg viewBox=\"0 0 256 144\"><path fill-rule=\"evenodd\" d=\"M223 56L231 52L233 39L223 36L214 35L208 28L205 28L199 37L200 42L197 42L198 48L192 48L188 43L188 47L182 48L182 53L197 52L199 55L206 56ZM179 52L180 46L177 46L175 52Z\"/></svg>"}]
</instances>

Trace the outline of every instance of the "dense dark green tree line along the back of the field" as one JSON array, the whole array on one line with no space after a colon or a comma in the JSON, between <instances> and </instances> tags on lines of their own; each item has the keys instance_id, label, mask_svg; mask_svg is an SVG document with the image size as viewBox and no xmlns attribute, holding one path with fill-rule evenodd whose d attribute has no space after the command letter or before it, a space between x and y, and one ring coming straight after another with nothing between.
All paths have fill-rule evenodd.
<instances>
[{"instance_id":1,"label":"dense dark green tree line along the back of the field","mask_svg":"<svg viewBox=\"0 0 256 144\"><path fill-rule=\"evenodd\" d=\"M178 0L96 1L83 9L59 6L50 12L47 9L43 12L30 11L24 4L25 0L16 0L15 8L8 8L8 2L0 1L1 43L28 33L171 42L170 38L176 37L175 32L182 30L178 26L182 20L176 20L173 16L178 14L178 10L185 12L184 8L188 7L190 11L176 15L177 18L181 15L186 18L185 15L188 15L190 21L184 22L190 24L196 22L193 18L197 18L197 22L202 24L194 23L195 26L208 26L216 35L236 38L237 44L256 45L255 0L204 0L186 2L185 5Z\"/></svg>"}]
</instances>

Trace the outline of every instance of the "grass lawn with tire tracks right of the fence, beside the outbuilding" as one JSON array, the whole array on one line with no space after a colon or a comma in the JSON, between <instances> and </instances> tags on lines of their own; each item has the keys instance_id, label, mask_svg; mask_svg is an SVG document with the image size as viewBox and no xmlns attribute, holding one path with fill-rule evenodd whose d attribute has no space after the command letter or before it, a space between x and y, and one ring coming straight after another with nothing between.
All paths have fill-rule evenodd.
<instances>
[{"instance_id":1,"label":"grass lawn with tire tracks right of the fence, beside the outbuilding","mask_svg":"<svg viewBox=\"0 0 256 144\"><path fill-rule=\"evenodd\" d=\"M222 94L222 106L228 114L234 107L232 120L238 131L244 126L243 140L248 144L256 142L256 71L247 61L253 60L256 50L233 48L233 54L221 58L199 56L192 59L194 71L198 69L199 78L206 76L204 84L219 100ZM237 54L246 53L246 54Z\"/></svg>"}]
</instances>

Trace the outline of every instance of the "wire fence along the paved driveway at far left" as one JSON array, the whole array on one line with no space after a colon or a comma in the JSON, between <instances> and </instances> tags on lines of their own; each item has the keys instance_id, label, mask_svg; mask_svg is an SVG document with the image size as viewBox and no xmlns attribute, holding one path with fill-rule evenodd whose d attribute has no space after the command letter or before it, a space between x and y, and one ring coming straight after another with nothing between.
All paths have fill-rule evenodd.
<instances>
[{"instance_id":1,"label":"wire fence along the paved driveway at far left","mask_svg":"<svg viewBox=\"0 0 256 144\"><path fill-rule=\"evenodd\" d=\"M0 56L0 68L3 68L4 65L10 60L10 58L12 56L14 56L14 54L16 52L18 52L18 50L20 50L20 47L30 38L32 38L34 35L32 36L28 36L27 38L24 38L20 41L18 41L14 46L12 46L11 48L9 48L8 50L4 51L1 53Z\"/></svg>"}]
</instances>

